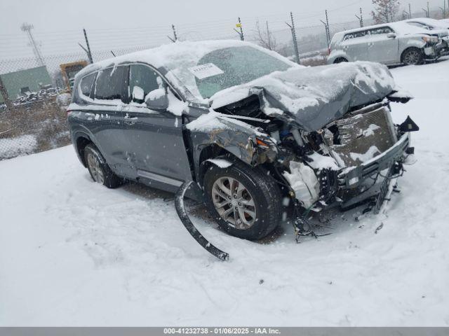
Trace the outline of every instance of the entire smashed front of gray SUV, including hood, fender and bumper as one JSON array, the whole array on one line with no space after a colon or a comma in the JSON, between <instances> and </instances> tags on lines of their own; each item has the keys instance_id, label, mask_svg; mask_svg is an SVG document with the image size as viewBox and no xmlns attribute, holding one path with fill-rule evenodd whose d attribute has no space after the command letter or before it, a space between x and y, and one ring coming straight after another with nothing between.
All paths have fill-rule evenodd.
<instances>
[{"instance_id":1,"label":"entire smashed front of gray SUV, including hood, fender and bumper","mask_svg":"<svg viewBox=\"0 0 449 336\"><path fill-rule=\"evenodd\" d=\"M411 98L395 90L382 66L359 62L320 68L297 69L304 76L295 71L275 76L288 78L288 85L295 80L299 90L284 92L290 102L304 91L308 104L285 104L286 95L270 90L269 84L217 92L211 99L213 109L186 125L199 179L201 152L217 146L220 155L272 172L288 187L286 195L304 209L351 207L380 195L392 172L401 173L403 158L410 152L409 133L393 124L389 103ZM310 83L316 85L308 87ZM324 95L329 90L320 91L319 85L334 87L333 94ZM239 90L243 99L229 102L232 90ZM311 90L314 101L309 99Z\"/></svg>"}]
</instances>

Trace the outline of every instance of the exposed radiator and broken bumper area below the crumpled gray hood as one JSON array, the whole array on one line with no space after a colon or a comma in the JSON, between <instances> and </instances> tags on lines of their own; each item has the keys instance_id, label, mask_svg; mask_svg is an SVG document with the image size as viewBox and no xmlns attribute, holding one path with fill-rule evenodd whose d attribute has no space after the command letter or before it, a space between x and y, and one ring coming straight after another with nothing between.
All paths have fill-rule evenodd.
<instances>
[{"instance_id":1,"label":"exposed radiator and broken bumper area below the crumpled gray hood","mask_svg":"<svg viewBox=\"0 0 449 336\"><path fill-rule=\"evenodd\" d=\"M368 202L368 209L378 213L396 188L403 164L414 152L410 132L419 128L410 117L394 125L389 103L384 99L353 109L321 130L296 131L296 137L284 132L279 139L279 170L299 207L298 235L313 234L309 211Z\"/></svg>"}]
</instances>

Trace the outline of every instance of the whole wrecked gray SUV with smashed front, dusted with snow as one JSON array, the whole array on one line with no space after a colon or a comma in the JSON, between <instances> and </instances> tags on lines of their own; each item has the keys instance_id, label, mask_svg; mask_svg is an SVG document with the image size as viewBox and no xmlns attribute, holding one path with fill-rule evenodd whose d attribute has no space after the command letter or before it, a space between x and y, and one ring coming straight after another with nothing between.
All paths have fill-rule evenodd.
<instances>
[{"instance_id":1,"label":"whole wrecked gray SUV with smashed front, dusted with snow","mask_svg":"<svg viewBox=\"0 0 449 336\"><path fill-rule=\"evenodd\" d=\"M413 153L407 102L386 66L304 67L237 41L177 42L91 64L76 75L68 121L92 179L125 179L206 203L224 230L260 239L294 209L370 201L374 211Z\"/></svg>"}]
</instances>

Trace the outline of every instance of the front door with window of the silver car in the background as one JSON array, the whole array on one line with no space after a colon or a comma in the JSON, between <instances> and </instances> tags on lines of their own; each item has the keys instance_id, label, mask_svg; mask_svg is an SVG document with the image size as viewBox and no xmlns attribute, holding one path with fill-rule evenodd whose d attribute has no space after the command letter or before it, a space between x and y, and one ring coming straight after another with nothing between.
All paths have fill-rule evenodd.
<instances>
[{"instance_id":1,"label":"front door with window of the silver car in the background","mask_svg":"<svg viewBox=\"0 0 449 336\"><path fill-rule=\"evenodd\" d=\"M379 27L368 31L368 60L391 64L399 62L399 42L396 37L388 37L394 33L390 27Z\"/></svg>"}]
</instances>

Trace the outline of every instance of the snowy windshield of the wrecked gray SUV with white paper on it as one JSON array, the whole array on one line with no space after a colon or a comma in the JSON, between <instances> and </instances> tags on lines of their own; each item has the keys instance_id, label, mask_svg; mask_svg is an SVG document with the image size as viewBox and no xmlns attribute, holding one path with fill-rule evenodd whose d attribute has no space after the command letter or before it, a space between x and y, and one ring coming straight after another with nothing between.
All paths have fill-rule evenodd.
<instances>
[{"instance_id":1,"label":"snowy windshield of the wrecked gray SUV with white paper on it","mask_svg":"<svg viewBox=\"0 0 449 336\"><path fill-rule=\"evenodd\" d=\"M196 63L182 64L175 76L196 97L207 99L227 87L248 83L292 64L247 45L213 50Z\"/></svg>"}]
</instances>

